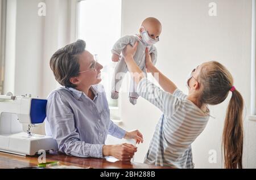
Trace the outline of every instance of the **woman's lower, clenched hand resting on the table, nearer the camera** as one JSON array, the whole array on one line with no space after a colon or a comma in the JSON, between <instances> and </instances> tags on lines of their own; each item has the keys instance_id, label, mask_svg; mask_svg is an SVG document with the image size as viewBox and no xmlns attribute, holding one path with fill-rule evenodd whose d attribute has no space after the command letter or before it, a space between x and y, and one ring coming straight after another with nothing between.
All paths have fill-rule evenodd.
<instances>
[{"instance_id":1,"label":"woman's lower, clenched hand resting on the table, nearer the camera","mask_svg":"<svg viewBox=\"0 0 256 180\"><path fill-rule=\"evenodd\" d=\"M131 161L137 147L132 144L104 145L102 153L104 156L113 156L120 161Z\"/></svg>"}]
</instances>

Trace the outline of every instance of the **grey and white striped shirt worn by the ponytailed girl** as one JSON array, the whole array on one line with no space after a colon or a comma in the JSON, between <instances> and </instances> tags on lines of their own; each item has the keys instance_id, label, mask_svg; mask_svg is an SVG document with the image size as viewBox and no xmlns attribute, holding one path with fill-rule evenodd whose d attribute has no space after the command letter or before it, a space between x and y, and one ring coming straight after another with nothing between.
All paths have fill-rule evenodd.
<instances>
[{"instance_id":1,"label":"grey and white striped shirt worn by the ponytailed girl","mask_svg":"<svg viewBox=\"0 0 256 180\"><path fill-rule=\"evenodd\" d=\"M163 113L144 162L173 168L194 168L191 143L207 125L209 110L204 113L179 89L172 95L146 78L139 82L137 91Z\"/></svg>"}]
</instances>

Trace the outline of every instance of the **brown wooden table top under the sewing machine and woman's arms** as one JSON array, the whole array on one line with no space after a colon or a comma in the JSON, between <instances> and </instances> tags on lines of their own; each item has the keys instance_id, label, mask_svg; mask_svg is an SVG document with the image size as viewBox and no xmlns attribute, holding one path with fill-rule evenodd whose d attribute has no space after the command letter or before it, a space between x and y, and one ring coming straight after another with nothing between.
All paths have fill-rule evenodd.
<instances>
[{"instance_id":1,"label":"brown wooden table top under the sewing machine and woman's arms","mask_svg":"<svg viewBox=\"0 0 256 180\"><path fill-rule=\"evenodd\" d=\"M105 158L81 158L67 156L57 152L46 154L46 162L59 161L61 165L79 166L81 168L96 168L96 169L166 169L161 166L152 166L138 162L110 162ZM28 166L37 166L38 156L19 156L10 153L0 152L0 168L13 169L24 168Z\"/></svg>"}]
</instances>

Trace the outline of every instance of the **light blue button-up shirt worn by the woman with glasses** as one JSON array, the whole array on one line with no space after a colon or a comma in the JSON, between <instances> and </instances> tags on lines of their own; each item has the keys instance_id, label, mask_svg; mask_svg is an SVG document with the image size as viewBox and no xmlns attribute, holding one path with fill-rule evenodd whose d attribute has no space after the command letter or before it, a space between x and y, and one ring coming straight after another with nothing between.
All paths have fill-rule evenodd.
<instances>
[{"instance_id":1,"label":"light blue button-up shirt worn by the woman with glasses","mask_svg":"<svg viewBox=\"0 0 256 180\"><path fill-rule=\"evenodd\" d=\"M110 120L101 84L92 85L94 99L74 88L59 88L48 96L46 134L56 139L60 152L102 158L108 134L122 139L126 131Z\"/></svg>"}]
</instances>

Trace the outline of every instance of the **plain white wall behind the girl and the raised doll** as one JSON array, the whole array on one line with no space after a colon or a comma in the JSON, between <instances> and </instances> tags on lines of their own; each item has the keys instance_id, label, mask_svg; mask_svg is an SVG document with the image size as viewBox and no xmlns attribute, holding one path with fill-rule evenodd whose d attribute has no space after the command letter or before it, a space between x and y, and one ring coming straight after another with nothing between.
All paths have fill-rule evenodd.
<instances>
[{"instance_id":1,"label":"plain white wall behind the girl and the raised doll","mask_svg":"<svg viewBox=\"0 0 256 180\"><path fill-rule=\"evenodd\" d=\"M217 16L209 16L207 0L130 0L122 1L122 35L133 35L147 16L158 18L163 32L158 48L156 66L177 87L187 93L185 78L193 67L202 62L217 60L232 73L234 85L243 95L250 113L250 37L251 1L216 0ZM127 130L138 128L145 142L139 145L135 161L143 162L160 111L143 100L137 105L122 97L122 120ZM192 144L196 168L221 168L221 135L228 99L210 107L211 115L204 132ZM256 168L256 123L244 119L245 148L243 165ZM209 150L217 151L217 163L208 162Z\"/></svg>"}]
</instances>

